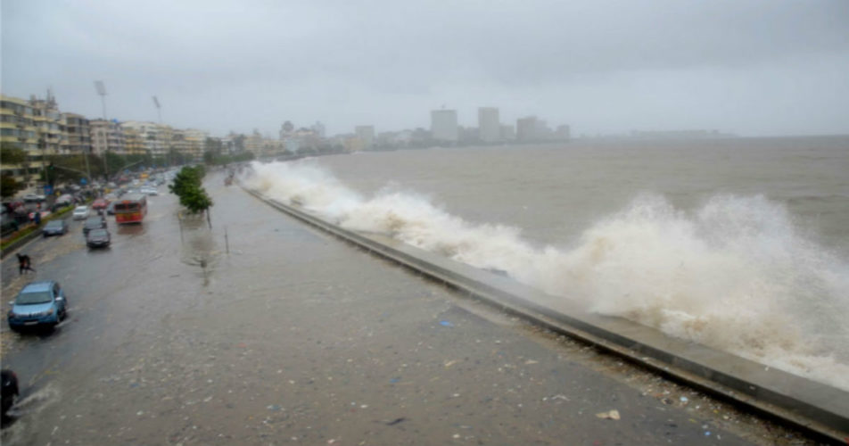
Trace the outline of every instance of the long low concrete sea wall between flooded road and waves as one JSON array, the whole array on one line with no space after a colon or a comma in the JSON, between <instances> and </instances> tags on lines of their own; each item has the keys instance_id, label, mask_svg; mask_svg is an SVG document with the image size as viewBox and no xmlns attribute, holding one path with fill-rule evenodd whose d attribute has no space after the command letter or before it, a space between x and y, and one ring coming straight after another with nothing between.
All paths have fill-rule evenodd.
<instances>
[{"instance_id":1,"label":"long low concrete sea wall between flooded road and waves","mask_svg":"<svg viewBox=\"0 0 849 446\"><path fill-rule=\"evenodd\" d=\"M557 333L613 352L663 376L684 382L780 422L820 441L845 444L849 438L849 392L791 375L697 343L664 335L622 318L588 314L508 277L425 252L383 235L364 235L320 219L300 208L248 190L263 202L370 252L466 291L502 310Z\"/></svg>"}]
</instances>

